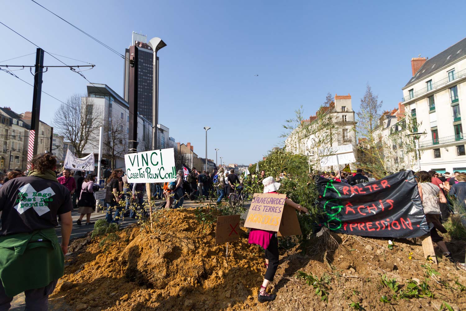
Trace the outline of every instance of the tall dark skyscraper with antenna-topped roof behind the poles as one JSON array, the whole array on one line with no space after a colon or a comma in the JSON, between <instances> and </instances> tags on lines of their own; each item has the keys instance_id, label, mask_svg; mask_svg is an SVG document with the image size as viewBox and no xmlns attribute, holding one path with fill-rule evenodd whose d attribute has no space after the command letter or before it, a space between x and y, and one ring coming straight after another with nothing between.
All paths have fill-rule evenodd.
<instances>
[{"instance_id":1,"label":"tall dark skyscraper with antenna-topped roof behind the poles","mask_svg":"<svg viewBox=\"0 0 466 311\"><path fill-rule=\"evenodd\" d=\"M153 91L153 51L152 48L146 44L147 36L139 35L133 32L132 45L138 48L138 72L137 72L137 108L138 113L152 121L152 91ZM130 49L125 50L124 60L124 79L123 79L123 93L124 100L129 102L129 75L130 75Z\"/></svg>"}]
</instances>

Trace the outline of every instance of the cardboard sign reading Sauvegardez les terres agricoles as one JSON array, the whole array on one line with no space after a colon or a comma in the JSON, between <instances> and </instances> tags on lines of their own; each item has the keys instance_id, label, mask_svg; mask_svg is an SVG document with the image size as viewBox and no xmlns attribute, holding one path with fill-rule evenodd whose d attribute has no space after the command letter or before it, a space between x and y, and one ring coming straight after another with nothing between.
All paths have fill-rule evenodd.
<instances>
[{"instance_id":1,"label":"cardboard sign reading Sauvegardez les terres agricoles","mask_svg":"<svg viewBox=\"0 0 466 311\"><path fill-rule=\"evenodd\" d=\"M244 227L278 232L285 194L254 194Z\"/></svg>"}]
</instances>

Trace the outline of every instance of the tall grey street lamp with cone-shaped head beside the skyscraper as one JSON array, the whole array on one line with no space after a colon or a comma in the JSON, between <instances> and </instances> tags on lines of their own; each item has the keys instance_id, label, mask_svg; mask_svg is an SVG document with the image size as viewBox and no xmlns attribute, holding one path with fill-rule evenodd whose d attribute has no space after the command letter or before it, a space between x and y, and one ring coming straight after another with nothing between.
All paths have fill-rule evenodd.
<instances>
[{"instance_id":1,"label":"tall grey street lamp with cone-shaped head beside the skyscraper","mask_svg":"<svg viewBox=\"0 0 466 311\"><path fill-rule=\"evenodd\" d=\"M134 43L134 42L133 42ZM157 149L157 124L158 124L158 56L159 49L166 47L166 43L158 38L149 40L148 45L152 48L152 150Z\"/></svg>"}]
</instances>

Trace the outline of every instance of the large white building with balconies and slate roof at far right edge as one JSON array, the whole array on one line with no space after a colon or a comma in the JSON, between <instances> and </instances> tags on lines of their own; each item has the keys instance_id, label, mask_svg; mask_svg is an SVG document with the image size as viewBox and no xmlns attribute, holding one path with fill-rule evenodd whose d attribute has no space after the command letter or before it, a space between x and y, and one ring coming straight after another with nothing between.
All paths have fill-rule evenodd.
<instances>
[{"instance_id":1,"label":"large white building with balconies and slate roof at far right edge","mask_svg":"<svg viewBox=\"0 0 466 311\"><path fill-rule=\"evenodd\" d=\"M412 77L402 88L406 112L418 120L421 169L466 172L466 38L428 59L411 59Z\"/></svg>"}]
</instances>

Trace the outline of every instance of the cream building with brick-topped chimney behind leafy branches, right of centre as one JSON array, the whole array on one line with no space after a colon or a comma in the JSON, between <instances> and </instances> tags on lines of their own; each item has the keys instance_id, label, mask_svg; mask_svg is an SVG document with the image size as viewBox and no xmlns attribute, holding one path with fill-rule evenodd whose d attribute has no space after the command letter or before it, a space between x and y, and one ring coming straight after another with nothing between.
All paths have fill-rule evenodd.
<instances>
[{"instance_id":1,"label":"cream building with brick-topped chimney behind leafy branches, right of centre","mask_svg":"<svg viewBox=\"0 0 466 311\"><path fill-rule=\"evenodd\" d=\"M323 129L316 124L318 117L317 114L327 114L331 117L331 121L335 124L336 130L332 131L330 140L325 145L316 146L315 141L322 137L323 131L329 131ZM285 141L286 150L293 153L301 153L314 157L312 160L316 160L315 157L320 155L320 150L326 150L330 147L337 147L341 145L352 145L353 152L357 158L357 142L356 142L356 119L355 111L351 105L351 95L337 95L335 94L335 101L330 103L328 107L321 107L316 112L315 116L310 116L309 119L303 121L304 124L308 124L309 131L305 137L301 134L293 131ZM318 161L316 161L318 162ZM340 163L340 169L347 163ZM337 170L336 167L318 167L320 170Z\"/></svg>"}]
</instances>

